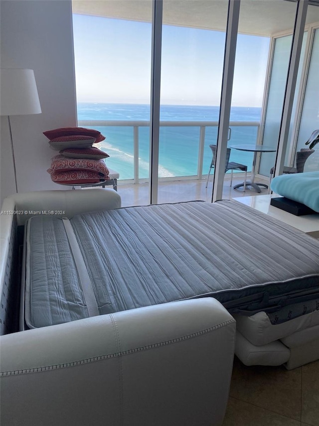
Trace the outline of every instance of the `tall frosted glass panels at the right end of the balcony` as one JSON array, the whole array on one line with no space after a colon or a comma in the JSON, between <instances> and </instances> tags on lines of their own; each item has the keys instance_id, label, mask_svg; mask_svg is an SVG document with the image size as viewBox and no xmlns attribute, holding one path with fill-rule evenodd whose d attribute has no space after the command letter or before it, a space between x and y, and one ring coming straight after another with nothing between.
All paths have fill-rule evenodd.
<instances>
[{"instance_id":1,"label":"tall frosted glass panels at the right end of the balcony","mask_svg":"<svg viewBox=\"0 0 319 426\"><path fill-rule=\"evenodd\" d=\"M293 3L289 7L293 7ZM296 165L296 152L301 148L307 148L305 142L315 130L316 122L317 128L319 127L319 86L318 78L315 77L315 74L318 73L318 40L316 45L318 19L319 7L308 5L284 161L284 165L289 167ZM314 24L313 22L316 21L317 24ZM269 84L265 91L265 114L262 122L261 141L274 147L277 147L282 125L282 109L291 60L292 41L292 29L286 33L273 34L272 37ZM270 169L274 166L275 155L275 153L262 155L259 168L261 175L269 176Z\"/></svg>"}]
</instances>

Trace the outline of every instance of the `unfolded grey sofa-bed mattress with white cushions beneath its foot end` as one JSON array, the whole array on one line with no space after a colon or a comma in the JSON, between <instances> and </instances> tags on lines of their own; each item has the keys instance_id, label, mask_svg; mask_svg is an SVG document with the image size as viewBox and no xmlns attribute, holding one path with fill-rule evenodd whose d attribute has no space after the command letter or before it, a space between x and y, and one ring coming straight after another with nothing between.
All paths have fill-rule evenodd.
<instances>
[{"instance_id":1,"label":"unfolded grey sofa-bed mattress with white cushions beneath its foot end","mask_svg":"<svg viewBox=\"0 0 319 426\"><path fill-rule=\"evenodd\" d=\"M44 197L42 208L61 201ZM319 358L319 240L236 201L110 206L16 216L20 330L213 297L237 321L246 365Z\"/></svg>"}]
</instances>

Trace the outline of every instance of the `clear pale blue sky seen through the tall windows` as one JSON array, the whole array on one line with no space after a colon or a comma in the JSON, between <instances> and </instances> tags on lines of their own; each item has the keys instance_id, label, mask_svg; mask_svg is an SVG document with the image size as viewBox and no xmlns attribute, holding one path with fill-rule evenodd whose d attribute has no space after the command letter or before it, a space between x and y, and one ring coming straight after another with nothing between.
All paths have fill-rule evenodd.
<instances>
[{"instance_id":1,"label":"clear pale blue sky seen through the tall windows","mask_svg":"<svg viewBox=\"0 0 319 426\"><path fill-rule=\"evenodd\" d=\"M152 27L73 14L78 102L150 103ZM219 105L225 33L163 25L161 103ZM238 34L232 106L262 105L269 38Z\"/></svg>"}]
</instances>

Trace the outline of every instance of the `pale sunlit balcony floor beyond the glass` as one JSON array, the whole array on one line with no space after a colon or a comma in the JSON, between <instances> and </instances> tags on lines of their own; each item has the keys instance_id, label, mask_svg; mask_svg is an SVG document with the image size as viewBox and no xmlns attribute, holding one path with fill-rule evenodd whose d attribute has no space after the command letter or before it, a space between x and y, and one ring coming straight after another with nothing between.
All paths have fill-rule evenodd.
<instances>
[{"instance_id":1,"label":"pale sunlit balcony floor beyond the glass","mask_svg":"<svg viewBox=\"0 0 319 426\"><path fill-rule=\"evenodd\" d=\"M230 178L225 177L223 196L225 200L230 200L234 197L253 196L258 195L251 187L234 190L236 184L242 183L243 177L234 176L232 186L230 187ZM268 184L268 180L258 179L258 182ZM180 181L166 181L159 184L158 203L178 203L182 201L191 200L204 200L211 202L212 197L212 181L209 181L208 188L206 187L206 180L180 180ZM261 194L267 194L268 190L261 187ZM122 206L143 206L150 204L149 201L149 184L125 184L119 181L118 193L122 198Z\"/></svg>"}]
</instances>

